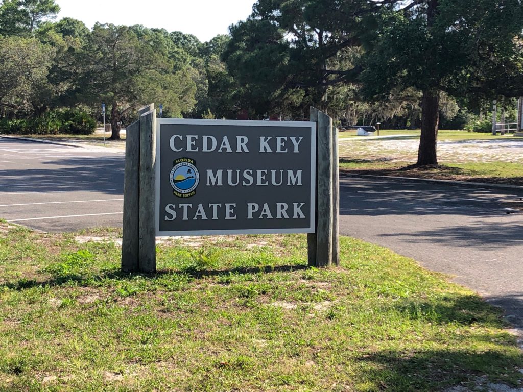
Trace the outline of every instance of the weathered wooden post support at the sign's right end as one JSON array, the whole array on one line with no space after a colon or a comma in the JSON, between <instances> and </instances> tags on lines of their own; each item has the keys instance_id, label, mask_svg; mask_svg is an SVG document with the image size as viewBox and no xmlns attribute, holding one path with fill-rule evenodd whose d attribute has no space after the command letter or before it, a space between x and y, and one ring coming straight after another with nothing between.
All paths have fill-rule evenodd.
<instances>
[{"instance_id":1,"label":"weathered wooden post support at the sign's right end","mask_svg":"<svg viewBox=\"0 0 523 392\"><path fill-rule=\"evenodd\" d=\"M317 127L317 188L316 188L316 233L308 236L309 265L329 267L333 263L333 246L337 247L334 234L334 151L332 119L325 113L311 108L311 121L316 121ZM337 155L337 153L336 153ZM337 222L337 219L336 219ZM337 231L336 231L337 232ZM315 246L313 245L315 237ZM336 245L334 244L336 241ZM336 261L339 251L336 250ZM315 256L315 257L314 257Z\"/></svg>"}]
</instances>

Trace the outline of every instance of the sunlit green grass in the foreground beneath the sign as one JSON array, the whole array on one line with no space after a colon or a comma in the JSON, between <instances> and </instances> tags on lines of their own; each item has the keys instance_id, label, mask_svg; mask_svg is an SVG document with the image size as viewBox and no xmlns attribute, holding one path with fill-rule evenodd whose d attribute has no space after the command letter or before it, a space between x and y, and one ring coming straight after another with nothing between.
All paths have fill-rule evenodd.
<instances>
[{"instance_id":1,"label":"sunlit green grass in the foreground beneath the sign","mask_svg":"<svg viewBox=\"0 0 523 392\"><path fill-rule=\"evenodd\" d=\"M0 223L2 391L434 391L520 385L498 309L390 250L342 238L306 268L306 238L158 245L155 275ZM82 235L115 237L115 230Z\"/></svg>"}]
</instances>

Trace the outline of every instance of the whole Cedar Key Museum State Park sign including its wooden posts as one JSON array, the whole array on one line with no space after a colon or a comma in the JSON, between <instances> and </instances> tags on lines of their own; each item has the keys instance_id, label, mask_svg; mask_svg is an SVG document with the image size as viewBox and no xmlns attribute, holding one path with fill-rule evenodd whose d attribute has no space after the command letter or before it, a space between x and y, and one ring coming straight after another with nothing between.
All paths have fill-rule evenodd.
<instances>
[{"instance_id":1,"label":"whole Cedar Key Museum State Park sign including its wooden posts","mask_svg":"<svg viewBox=\"0 0 523 392\"><path fill-rule=\"evenodd\" d=\"M306 233L310 266L339 265L338 131L310 122L156 118L127 127L122 271L156 272L156 237Z\"/></svg>"}]
</instances>

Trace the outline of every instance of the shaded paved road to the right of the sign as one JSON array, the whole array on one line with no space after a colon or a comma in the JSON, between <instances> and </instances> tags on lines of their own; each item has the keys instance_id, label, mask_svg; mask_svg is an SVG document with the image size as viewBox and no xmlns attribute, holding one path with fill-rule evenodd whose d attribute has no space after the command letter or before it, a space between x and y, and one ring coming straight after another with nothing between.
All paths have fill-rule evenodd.
<instances>
[{"instance_id":1,"label":"shaded paved road to the right of the sign","mask_svg":"<svg viewBox=\"0 0 523 392\"><path fill-rule=\"evenodd\" d=\"M343 235L456 275L523 328L523 214L501 210L523 192L342 177L340 194Z\"/></svg>"}]
</instances>

